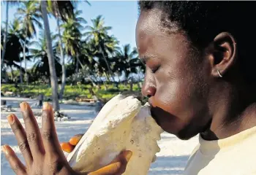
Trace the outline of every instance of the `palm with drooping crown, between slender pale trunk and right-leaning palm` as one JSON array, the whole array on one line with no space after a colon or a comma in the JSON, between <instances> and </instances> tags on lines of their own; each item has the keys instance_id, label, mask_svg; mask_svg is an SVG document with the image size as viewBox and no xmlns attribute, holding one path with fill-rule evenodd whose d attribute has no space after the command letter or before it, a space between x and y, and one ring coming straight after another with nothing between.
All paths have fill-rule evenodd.
<instances>
[{"instance_id":1,"label":"palm with drooping crown, between slender pale trunk and right-leaning palm","mask_svg":"<svg viewBox=\"0 0 256 175\"><path fill-rule=\"evenodd\" d=\"M63 42L65 50L68 55L70 55L75 63L75 74L76 81L78 79L78 69L79 69L79 53L80 53L80 40L82 38L82 33L86 24L86 20L79 17L82 11L78 10L75 12L74 18L68 18L67 23L63 23L61 28L64 29L63 32Z\"/></svg>"}]
</instances>

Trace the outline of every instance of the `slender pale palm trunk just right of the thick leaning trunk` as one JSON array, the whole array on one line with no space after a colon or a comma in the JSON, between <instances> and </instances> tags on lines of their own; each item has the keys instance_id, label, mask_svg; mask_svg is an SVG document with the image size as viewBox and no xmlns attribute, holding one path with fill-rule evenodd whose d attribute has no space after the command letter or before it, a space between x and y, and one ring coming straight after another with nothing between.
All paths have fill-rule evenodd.
<instances>
[{"instance_id":1,"label":"slender pale palm trunk just right of the thick leaning trunk","mask_svg":"<svg viewBox=\"0 0 256 175\"><path fill-rule=\"evenodd\" d=\"M61 39L61 26L59 25L59 16L57 17L57 26L59 33L59 48L61 50L61 69L62 69L62 78L61 78L61 90L59 91L59 98L62 99L64 94L64 88L66 85L66 69L65 69L65 59L64 59L64 50L62 48L62 39Z\"/></svg>"}]
</instances>

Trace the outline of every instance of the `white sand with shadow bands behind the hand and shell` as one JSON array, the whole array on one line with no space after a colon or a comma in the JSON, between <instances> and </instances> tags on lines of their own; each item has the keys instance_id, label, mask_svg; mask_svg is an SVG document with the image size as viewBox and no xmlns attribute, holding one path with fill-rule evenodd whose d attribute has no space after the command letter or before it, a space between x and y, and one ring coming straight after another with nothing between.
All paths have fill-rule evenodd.
<instances>
[{"instance_id":1,"label":"white sand with shadow bands behind the hand and shell","mask_svg":"<svg viewBox=\"0 0 256 175\"><path fill-rule=\"evenodd\" d=\"M16 114L20 119L20 122L24 124L23 118L20 114L20 109L18 109L18 103L21 101L27 101L29 104L34 104L36 101L29 98L5 99L7 100L7 104L12 104L13 109L16 111L13 113ZM61 109L63 109L62 112L68 114L72 119L66 122L56 122L60 142L68 141L69 138L75 134L85 133L96 116L91 106L61 104ZM33 109L33 111L39 112L40 109ZM1 112L1 145L9 144L17 153L18 158L23 161L15 136L12 133L10 125L7 123L6 117L8 114L10 114L10 112ZM40 119L37 120L37 122L41 125ZM177 139L176 136L169 133L162 133L162 139L159 141L161 151L157 153L157 160L152 163L148 174L182 174L184 167L186 166L187 159L189 158L189 154L198 143L197 139L197 136L195 136L189 141L181 141ZM2 152L1 174L14 174Z\"/></svg>"}]
</instances>

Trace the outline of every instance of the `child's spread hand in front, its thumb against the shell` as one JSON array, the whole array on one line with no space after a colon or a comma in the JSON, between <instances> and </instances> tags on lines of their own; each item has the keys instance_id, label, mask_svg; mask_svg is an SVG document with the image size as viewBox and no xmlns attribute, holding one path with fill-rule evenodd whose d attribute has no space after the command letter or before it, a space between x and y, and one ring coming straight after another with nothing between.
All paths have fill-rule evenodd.
<instances>
[{"instance_id":1,"label":"child's spread hand in front, its thumb against the shell","mask_svg":"<svg viewBox=\"0 0 256 175\"><path fill-rule=\"evenodd\" d=\"M7 120L11 125L12 132L15 133L26 166L21 163L11 147L8 145L2 147L15 174L80 174L72 170L61 150L53 120L53 109L50 104L45 103L42 109L41 133L29 104L20 104L20 109L23 113L26 131L14 114L10 114ZM129 151L121 152L110 165L86 174L122 174L131 155L132 152Z\"/></svg>"}]
</instances>

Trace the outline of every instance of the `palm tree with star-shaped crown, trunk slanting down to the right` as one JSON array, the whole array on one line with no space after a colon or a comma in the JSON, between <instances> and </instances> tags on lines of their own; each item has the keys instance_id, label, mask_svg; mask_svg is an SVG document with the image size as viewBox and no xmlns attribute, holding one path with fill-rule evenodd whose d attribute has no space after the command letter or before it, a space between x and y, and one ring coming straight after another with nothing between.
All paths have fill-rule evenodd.
<instances>
[{"instance_id":1,"label":"palm tree with star-shaped crown, trunk slanting down to the right","mask_svg":"<svg viewBox=\"0 0 256 175\"><path fill-rule=\"evenodd\" d=\"M108 55L115 50L118 41L113 36L108 36L108 31L111 27L104 26L104 19L102 18L102 15L97 16L97 18L91 20L91 22L92 26L86 26L86 29L89 31L87 31L85 35L94 40L94 44L95 47L97 47L98 52L96 52L96 54L98 54L99 58L103 58L108 69L108 74L110 74L113 81L115 81L113 71L110 69L108 62Z\"/></svg>"}]
</instances>

